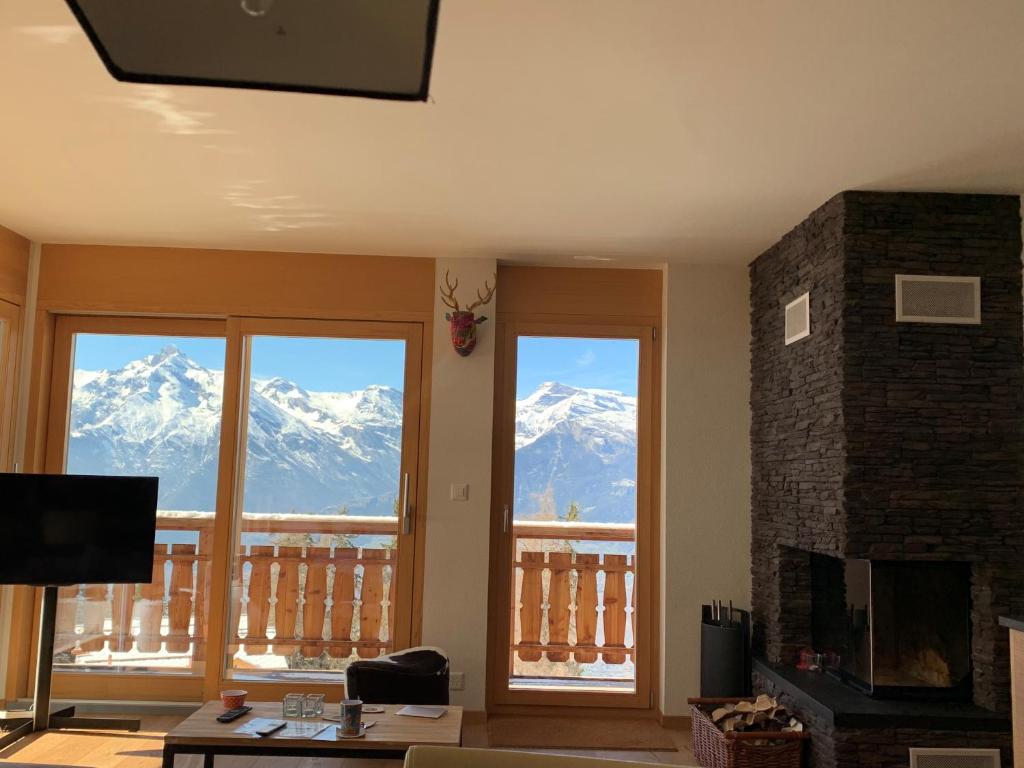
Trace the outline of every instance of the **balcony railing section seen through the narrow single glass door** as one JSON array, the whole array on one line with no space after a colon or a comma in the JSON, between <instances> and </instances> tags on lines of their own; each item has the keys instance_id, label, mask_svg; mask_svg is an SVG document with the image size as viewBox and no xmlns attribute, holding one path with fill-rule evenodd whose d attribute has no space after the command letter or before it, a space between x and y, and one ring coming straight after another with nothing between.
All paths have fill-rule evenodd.
<instances>
[{"instance_id":1,"label":"balcony railing section seen through the narrow single glass door","mask_svg":"<svg viewBox=\"0 0 1024 768\"><path fill-rule=\"evenodd\" d=\"M636 636L635 557L581 552L582 542L634 542L633 525L516 522L510 670L520 662L623 664ZM599 549L587 547L587 549ZM632 595L627 595L627 589ZM598 633L600 623L600 637ZM532 676L532 675L531 675Z\"/></svg>"}]
</instances>

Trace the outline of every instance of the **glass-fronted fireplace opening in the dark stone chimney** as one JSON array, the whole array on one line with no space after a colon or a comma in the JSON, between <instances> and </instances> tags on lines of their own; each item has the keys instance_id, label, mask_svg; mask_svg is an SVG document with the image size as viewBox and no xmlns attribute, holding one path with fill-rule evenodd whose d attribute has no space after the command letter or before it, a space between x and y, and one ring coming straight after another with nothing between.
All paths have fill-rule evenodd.
<instances>
[{"instance_id":1,"label":"glass-fronted fireplace opening in the dark stone chimney","mask_svg":"<svg viewBox=\"0 0 1024 768\"><path fill-rule=\"evenodd\" d=\"M880 698L971 700L970 564L811 566L811 634L829 672Z\"/></svg>"}]
</instances>

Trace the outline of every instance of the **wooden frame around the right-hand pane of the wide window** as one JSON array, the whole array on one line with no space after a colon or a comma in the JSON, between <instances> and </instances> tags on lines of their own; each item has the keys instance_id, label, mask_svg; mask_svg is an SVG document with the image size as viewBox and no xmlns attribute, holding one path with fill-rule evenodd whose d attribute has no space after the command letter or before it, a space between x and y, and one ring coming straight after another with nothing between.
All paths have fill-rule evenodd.
<instances>
[{"instance_id":1,"label":"wooden frame around the right-hand pane of the wide window","mask_svg":"<svg viewBox=\"0 0 1024 768\"><path fill-rule=\"evenodd\" d=\"M242 522L242 499L245 486L245 444L248 429L248 391L246 384L249 382L249 365L251 348L248 339L254 336L283 336L296 338L326 338L326 339L390 339L404 341L406 343L406 369L402 391L402 435L401 435L401 467L399 477L408 472L410 477L409 486L409 507L413 517L413 526L410 534L406 535L399 530L397 537L403 546L397 547L398 560L396 562L397 586L395 587L395 605L408 606L404 610L395 610L393 632L393 644L396 649L409 647L419 642L418 617L422 615L423 599L423 547L426 527L423 524L422 510L426 509L426 462L423 461L421 451L425 440L420 439L421 434L425 434L423 429L423 409L424 409L424 326L421 323L402 323L385 321L334 321L334 319L267 319L263 317L231 317L227 324L228 353L232 356L231 367L239 372L233 377L232 384L234 392L225 392L225 412L227 400L234 403L233 417L231 418L231 430L233 438L230 440L233 453L230 457L230 464L225 467L221 463L221 477L229 479L224 482L230 485L230 525L227 526L225 536L227 541L223 543L221 549L214 547L218 552L225 552L227 556L221 559L221 567L213 574L213 584L218 582L221 585L217 610L218 620L211 622L211 626L217 625L222 633L230 623L230 606L225 596L227 586L231 580L232 561L234 552L234 542L238 541L239 530ZM227 422L225 421L225 428ZM224 452L226 453L226 451ZM222 460L224 456L222 455ZM211 611L214 603L211 601ZM211 632L212 638L212 632ZM211 647L212 640L211 640ZM219 675L216 679L216 689L231 687L237 684L237 680L230 677L226 659L226 639L221 636L218 646L220 648L221 663L218 665ZM210 694L212 677L208 676L207 698L213 697ZM280 697L281 691L286 687L295 687L295 683L289 681L245 681L246 689L255 698L263 696ZM341 696L337 682L315 683L303 681L303 690L310 692L321 692L331 696L332 700L338 700Z\"/></svg>"}]
</instances>

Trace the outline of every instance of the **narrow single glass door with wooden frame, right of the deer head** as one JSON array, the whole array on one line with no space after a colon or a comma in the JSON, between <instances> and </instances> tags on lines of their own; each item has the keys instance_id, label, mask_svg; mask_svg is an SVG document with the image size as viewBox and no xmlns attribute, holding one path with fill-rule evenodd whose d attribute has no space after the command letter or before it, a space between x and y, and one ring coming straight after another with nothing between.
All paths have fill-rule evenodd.
<instances>
[{"instance_id":1,"label":"narrow single glass door with wooden frame, right of the deer head","mask_svg":"<svg viewBox=\"0 0 1024 768\"><path fill-rule=\"evenodd\" d=\"M650 330L502 339L499 703L647 706Z\"/></svg>"}]
</instances>

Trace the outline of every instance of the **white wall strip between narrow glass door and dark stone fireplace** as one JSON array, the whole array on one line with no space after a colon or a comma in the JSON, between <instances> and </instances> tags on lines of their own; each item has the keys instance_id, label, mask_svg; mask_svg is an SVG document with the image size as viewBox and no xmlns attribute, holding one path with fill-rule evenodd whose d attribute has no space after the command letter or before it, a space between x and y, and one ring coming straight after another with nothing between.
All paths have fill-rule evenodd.
<instances>
[{"instance_id":1,"label":"white wall strip between narrow glass door and dark stone fireplace","mask_svg":"<svg viewBox=\"0 0 1024 768\"><path fill-rule=\"evenodd\" d=\"M750 607L750 289L743 266L670 264L665 278L659 703L685 715L700 604Z\"/></svg>"}]
</instances>

